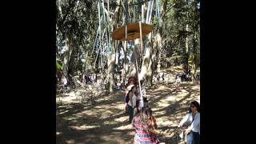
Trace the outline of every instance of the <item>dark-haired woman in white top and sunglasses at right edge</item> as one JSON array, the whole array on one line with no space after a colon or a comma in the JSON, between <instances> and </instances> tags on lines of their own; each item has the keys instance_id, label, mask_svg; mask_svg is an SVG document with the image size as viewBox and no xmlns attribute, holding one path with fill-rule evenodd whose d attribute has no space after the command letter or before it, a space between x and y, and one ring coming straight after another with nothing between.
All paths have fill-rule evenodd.
<instances>
[{"instance_id":1,"label":"dark-haired woman in white top and sunglasses at right edge","mask_svg":"<svg viewBox=\"0 0 256 144\"><path fill-rule=\"evenodd\" d=\"M183 126L188 122L189 126L184 130L186 134L186 144L199 144L200 142L200 113L198 112L200 105L198 102L193 101L190 103L190 113L182 119L178 127Z\"/></svg>"}]
</instances>

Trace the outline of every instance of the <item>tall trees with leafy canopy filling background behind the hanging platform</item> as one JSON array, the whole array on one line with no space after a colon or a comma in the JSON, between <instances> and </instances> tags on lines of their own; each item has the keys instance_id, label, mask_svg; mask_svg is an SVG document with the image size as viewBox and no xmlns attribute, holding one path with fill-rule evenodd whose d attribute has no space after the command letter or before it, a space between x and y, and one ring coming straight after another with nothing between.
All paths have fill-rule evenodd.
<instances>
[{"instance_id":1,"label":"tall trees with leafy canopy filling background behind the hanging platform","mask_svg":"<svg viewBox=\"0 0 256 144\"><path fill-rule=\"evenodd\" d=\"M151 8L152 12L147 10L148 8ZM154 58L161 59L161 63L168 63L168 59L178 55L182 63L187 65L190 63L188 65L190 69L198 67L200 53L200 1L198 0L58 0L56 10L58 58L56 65L57 69L62 70L68 77L74 76L78 71L83 73L86 70L107 70L110 66L110 63L108 64L110 54L113 52L118 54L118 58L115 58L118 62L114 62L114 70L117 66L122 67L121 62L124 60L122 58L126 58L122 55L133 52L131 49L134 42L124 50L125 43L115 42L110 34L119 26L126 24L126 14L128 23L141 21L142 10L144 21L147 19L154 26L152 42L157 41L156 34L159 33L161 36L160 45L158 44L160 47L153 46L153 43L146 44L150 39L143 38L144 47L154 47L151 51L153 55L150 57L154 57L155 54ZM145 52L146 49L143 50ZM158 56L159 54L162 56ZM139 62L138 67L141 69L143 57ZM156 64L152 66L156 67ZM107 75L107 72L104 74Z\"/></svg>"}]
</instances>

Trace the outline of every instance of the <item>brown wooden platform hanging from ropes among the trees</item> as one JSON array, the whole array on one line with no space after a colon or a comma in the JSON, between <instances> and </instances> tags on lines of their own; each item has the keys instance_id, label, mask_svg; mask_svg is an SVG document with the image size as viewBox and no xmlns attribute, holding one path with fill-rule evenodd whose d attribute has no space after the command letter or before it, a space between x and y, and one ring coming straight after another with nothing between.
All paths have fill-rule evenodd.
<instances>
[{"instance_id":1,"label":"brown wooden platform hanging from ropes among the trees","mask_svg":"<svg viewBox=\"0 0 256 144\"><path fill-rule=\"evenodd\" d=\"M142 37L146 34L150 34L153 30L153 26L146 23L142 23ZM111 34L113 39L125 41L126 40L126 26L121 26L118 29L114 30ZM127 25L127 40L133 40L140 38L139 34L139 23L130 23Z\"/></svg>"}]
</instances>

